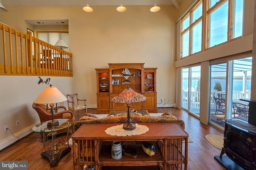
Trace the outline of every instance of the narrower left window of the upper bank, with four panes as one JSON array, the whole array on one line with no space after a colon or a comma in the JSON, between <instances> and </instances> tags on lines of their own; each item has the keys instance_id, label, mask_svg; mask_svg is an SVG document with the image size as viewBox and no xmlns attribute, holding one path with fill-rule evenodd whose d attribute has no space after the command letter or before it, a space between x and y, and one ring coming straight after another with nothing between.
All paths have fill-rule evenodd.
<instances>
[{"instance_id":1,"label":"narrower left window of the upper bank, with four panes","mask_svg":"<svg viewBox=\"0 0 256 170\"><path fill-rule=\"evenodd\" d=\"M202 51L202 1L181 21L181 57Z\"/></svg>"}]
</instances>

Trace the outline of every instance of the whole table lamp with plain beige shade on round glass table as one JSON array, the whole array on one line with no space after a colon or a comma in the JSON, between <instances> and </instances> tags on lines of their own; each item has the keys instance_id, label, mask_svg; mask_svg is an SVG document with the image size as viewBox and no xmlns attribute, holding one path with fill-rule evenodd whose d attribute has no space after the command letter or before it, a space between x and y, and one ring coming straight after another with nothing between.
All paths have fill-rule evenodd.
<instances>
[{"instance_id":1,"label":"whole table lamp with plain beige shade on round glass table","mask_svg":"<svg viewBox=\"0 0 256 170\"><path fill-rule=\"evenodd\" d=\"M52 120L48 121L47 125L48 126L58 126L58 120L54 120L53 116L54 116L54 103L60 103L60 102L64 102L66 101L67 98L54 86L52 86L52 84L49 87L46 87L40 94L39 96L36 98L36 100L34 100L34 103L36 104L46 104L48 109L48 104L50 104L50 109L51 109L51 113L52 113Z\"/></svg>"}]
</instances>

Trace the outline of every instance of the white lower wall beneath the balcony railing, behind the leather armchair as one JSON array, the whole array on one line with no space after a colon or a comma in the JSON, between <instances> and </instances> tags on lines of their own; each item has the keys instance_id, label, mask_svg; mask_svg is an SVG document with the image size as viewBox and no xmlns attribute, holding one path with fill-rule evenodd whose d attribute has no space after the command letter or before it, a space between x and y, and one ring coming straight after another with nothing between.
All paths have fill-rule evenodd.
<instances>
[{"instance_id":1,"label":"white lower wall beneath the balcony railing, behind the leather armchair","mask_svg":"<svg viewBox=\"0 0 256 170\"><path fill-rule=\"evenodd\" d=\"M41 76L46 80L49 76ZM72 77L50 76L50 84L56 86L64 96L72 93ZM38 84L38 76L0 76L0 150L16 141L12 137L24 137L31 133L31 128L40 122L37 112L32 108L33 101L46 88L47 84ZM67 106L62 102L59 106ZM34 115L34 119L32 119ZM20 125L16 126L19 120ZM4 131L4 126L12 131Z\"/></svg>"}]
</instances>

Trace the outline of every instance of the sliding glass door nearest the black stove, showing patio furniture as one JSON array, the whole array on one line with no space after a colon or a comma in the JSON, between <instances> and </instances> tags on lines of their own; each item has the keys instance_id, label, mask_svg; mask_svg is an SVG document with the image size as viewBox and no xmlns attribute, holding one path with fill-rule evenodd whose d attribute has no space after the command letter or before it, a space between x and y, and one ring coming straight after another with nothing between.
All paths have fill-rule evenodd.
<instances>
[{"instance_id":1,"label":"sliding glass door nearest the black stove, showing patio furniture","mask_svg":"<svg viewBox=\"0 0 256 170\"><path fill-rule=\"evenodd\" d=\"M220 127L223 119L248 121L248 102L240 99L250 99L251 76L252 57L210 64L208 121Z\"/></svg>"}]
</instances>

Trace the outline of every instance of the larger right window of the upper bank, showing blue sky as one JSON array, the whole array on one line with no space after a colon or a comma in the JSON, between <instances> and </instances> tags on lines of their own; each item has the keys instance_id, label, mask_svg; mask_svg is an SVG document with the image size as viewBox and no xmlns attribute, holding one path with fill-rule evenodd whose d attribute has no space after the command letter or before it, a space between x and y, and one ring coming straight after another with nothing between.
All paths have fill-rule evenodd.
<instances>
[{"instance_id":1,"label":"larger right window of the upper bank, showing blue sky","mask_svg":"<svg viewBox=\"0 0 256 170\"><path fill-rule=\"evenodd\" d=\"M242 35L243 0L209 0L206 48Z\"/></svg>"}]
</instances>

